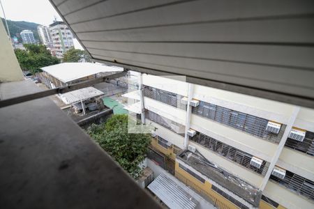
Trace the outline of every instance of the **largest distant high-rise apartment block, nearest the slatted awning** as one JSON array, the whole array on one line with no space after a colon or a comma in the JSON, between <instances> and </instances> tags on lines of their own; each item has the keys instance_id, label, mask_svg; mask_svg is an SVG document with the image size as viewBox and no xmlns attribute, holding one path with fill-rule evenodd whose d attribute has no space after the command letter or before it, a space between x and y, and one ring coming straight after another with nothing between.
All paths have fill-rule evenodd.
<instances>
[{"instance_id":1,"label":"largest distant high-rise apartment block, nearest the slatted awning","mask_svg":"<svg viewBox=\"0 0 314 209\"><path fill-rule=\"evenodd\" d=\"M73 34L64 22L56 21L49 26L50 37L52 38L52 54L57 58L63 58L63 53L74 47Z\"/></svg>"}]
</instances>

